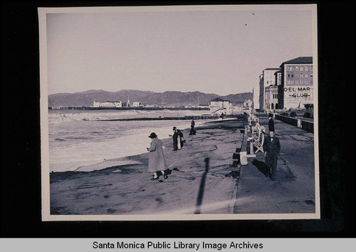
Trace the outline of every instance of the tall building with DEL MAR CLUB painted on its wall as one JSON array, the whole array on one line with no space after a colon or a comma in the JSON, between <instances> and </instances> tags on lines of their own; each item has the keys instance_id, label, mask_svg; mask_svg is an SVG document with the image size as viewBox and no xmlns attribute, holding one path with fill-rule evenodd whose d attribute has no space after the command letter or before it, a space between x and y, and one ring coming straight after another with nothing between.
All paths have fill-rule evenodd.
<instances>
[{"instance_id":1,"label":"tall building with DEL MAR CLUB painted on its wall","mask_svg":"<svg viewBox=\"0 0 356 252\"><path fill-rule=\"evenodd\" d=\"M298 109L313 104L313 57L298 57L281 64L279 104Z\"/></svg>"}]
</instances>

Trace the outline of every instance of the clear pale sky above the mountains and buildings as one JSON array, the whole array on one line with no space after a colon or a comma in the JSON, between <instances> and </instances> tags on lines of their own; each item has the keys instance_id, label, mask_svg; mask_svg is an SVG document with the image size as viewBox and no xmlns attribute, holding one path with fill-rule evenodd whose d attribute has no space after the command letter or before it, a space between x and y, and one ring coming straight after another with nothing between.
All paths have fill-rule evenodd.
<instances>
[{"instance_id":1,"label":"clear pale sky above the mountains and buildings","mask_svg":"<svg viewBox=\"0 0 356 252\"><path fill-rule=\"evenodd\" d=\"M80 9L46 15L48 94L251 92L263 69L313 56L312 11Z\"/></svg>"}]
</instances>

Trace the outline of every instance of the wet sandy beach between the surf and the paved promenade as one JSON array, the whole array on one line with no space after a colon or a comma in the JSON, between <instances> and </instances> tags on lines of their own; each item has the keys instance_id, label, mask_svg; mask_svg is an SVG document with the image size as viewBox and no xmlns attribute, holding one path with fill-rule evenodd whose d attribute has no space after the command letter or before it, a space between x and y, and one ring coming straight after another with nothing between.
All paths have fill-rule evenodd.
<instances>
[{"instance_id":1,"label":"wet sandy beach between the surf and the paved promenade","mask_svg":"<svg viewBox=\"0 0 356 252\"><path fill-rule=\"evenodd\" d=\"M241 120L225 119L196 127L194 136L184 129L179 151L172 138L158 136L169 166L166 179L151 180L148 152L120 158L120 166L98 163L107 168L97 171L53 172L51 215L234 213L239 168L232 166L232 153L241 146L242 127Z\"/></svg>"}]
</instances>

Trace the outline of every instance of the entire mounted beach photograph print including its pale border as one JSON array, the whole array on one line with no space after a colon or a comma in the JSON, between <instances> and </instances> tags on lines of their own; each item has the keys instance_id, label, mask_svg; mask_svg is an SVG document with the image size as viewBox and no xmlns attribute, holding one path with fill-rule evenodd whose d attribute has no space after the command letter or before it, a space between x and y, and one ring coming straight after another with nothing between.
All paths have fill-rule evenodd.
<instances>
[{"instance_id":1,"label":"entire mounted beach photograph print including its pale border","mask_svg":"<svg viewBox=\"0 0 356 252\"><path fill-rule=\"evenodd\" d=\"M43 221L320 218L316 15L38 8Z\"/></svg>"}]
</instances>

